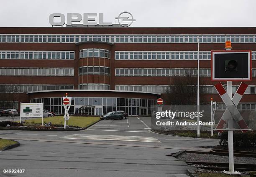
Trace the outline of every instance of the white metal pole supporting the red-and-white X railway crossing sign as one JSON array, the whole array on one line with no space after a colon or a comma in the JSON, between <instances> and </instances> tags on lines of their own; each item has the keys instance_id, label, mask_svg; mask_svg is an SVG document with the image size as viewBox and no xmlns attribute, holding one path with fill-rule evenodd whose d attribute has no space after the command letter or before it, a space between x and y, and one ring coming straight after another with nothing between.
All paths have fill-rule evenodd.
<instances>
[{"instance_id":1,"label":"white metal pole supporting the red-and-white X railway crossing sign","mask_svg":"<svg viewBox=\"0 0 256 177\"><path fill-rule=\"evenodd\" d=\"M231 50L227 48L226 50ZM232 81L227 81L227 93L232 99ZM228 129L233 128L233 118L228 121ZM234 146L233 146L233 130L228 130L228 164L229 172L234 172Z\"/></svg>"}]
</instances>

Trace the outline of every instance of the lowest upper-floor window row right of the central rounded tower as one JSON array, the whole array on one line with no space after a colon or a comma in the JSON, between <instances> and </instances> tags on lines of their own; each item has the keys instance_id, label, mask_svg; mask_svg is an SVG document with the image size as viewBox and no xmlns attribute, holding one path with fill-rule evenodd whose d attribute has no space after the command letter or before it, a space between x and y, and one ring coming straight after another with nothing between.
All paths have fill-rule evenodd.
<instances>
[{"instance_id":1,"label":"lowest upper-floor window row right of the central rounded tower","mask_svg":"<svg viewBox=\"0 0 256 177\"><path fill-rule=\"evenodd\" d=\"M232 93L236 93L239 86L232 86ZM218 93L214 86L203 86L204 93ZM115 85L115 90L125 91L139 91L139 92L153 92L166 93L171 90L170 85ZM256 87L247 87L245 94L256 94Z\"/></svg>"}]
</instances>

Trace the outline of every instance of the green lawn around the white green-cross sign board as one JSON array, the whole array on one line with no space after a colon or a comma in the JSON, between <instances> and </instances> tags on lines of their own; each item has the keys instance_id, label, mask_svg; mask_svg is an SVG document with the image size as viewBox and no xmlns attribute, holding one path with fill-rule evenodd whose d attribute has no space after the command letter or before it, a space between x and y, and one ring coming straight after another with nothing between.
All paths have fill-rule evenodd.
<instances>
[{"instance_id":1,"label":"green lawn around the white green-cross sign board","mask_svg":"<svg viewBox=\"0 0 256 177\"><path fill-rule=\"evenodd\" d=\"M69 120L67 121L67 125L72 125L77 127L87 127L97 122L98 120L100 120L100 117L70 116ZM48 122L51 122L51 124L55 124L55 125L64 125L64 118L63 116L44 117L44 124ZM26 123L24 125L41 124L41 123L42 123L42 118L29 119L29 120L26 120Z\"/></svg>"}]
</instances>

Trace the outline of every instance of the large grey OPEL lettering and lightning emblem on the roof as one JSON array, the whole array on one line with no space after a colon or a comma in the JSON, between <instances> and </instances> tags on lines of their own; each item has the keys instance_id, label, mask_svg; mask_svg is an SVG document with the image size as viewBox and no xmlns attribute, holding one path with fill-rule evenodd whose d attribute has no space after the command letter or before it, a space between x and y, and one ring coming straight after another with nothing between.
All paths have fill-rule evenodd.
<instances>
[{"instance_id":1,"label":"large grey OPEL lettering and lightning emblem on the roof","mask_svg":"<svg viewBox=\"0 0 256 177\"><path fill-rule=\"evenodd\" d=\"M77 23L73 22L81 22L83 19L83 25L112 25L112 22L104 22L103 13L99 13L99 23L96 22L97 13L68 13L67 14L67 25L73 25ZM56 22L56 18L60 18L59 22ZM55 21L54 21L55 19ZM118 20L118 23L123 27L130 26L136 20L133 19L133 15L130 12L121 12L118 17L115 17ZM52 13L49 16L49 23L52 26L62 26L66 22L66 17L62 13ZM128 22L125 24L123 22Z\"/></svg>"}]
</instances>

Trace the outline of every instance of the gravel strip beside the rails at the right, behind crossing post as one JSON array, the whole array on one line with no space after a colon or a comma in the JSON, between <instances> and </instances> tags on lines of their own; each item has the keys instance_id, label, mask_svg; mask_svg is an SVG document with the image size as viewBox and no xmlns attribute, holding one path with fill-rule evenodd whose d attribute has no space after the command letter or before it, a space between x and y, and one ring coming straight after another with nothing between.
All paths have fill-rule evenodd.
<instances>
[{"instance_id":1,"label":"gravel strip beside the rails at the right, behind crossing post","mask_svg":"<svg viewBox=\"0 0 256 177\"><path fill-rule=\"evenodd\" d=\"M228 156L184 153L178 156L179 160L193 162L222 162L228 163ZM234 163L238 164L256 164L254 157L234 157Z\"/></svg>"}]
</instances>

